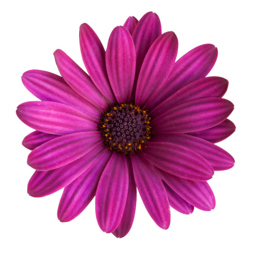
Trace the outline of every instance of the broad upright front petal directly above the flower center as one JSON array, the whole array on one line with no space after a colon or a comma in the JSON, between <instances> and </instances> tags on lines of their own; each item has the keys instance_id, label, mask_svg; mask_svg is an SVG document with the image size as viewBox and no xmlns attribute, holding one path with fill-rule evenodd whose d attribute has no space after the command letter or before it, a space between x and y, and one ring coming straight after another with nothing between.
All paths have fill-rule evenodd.
<instances>
[{"instance_id":1,"label":"broad upright front petal directly above the flower center","mask_svg":"<svg viewBox=\"0 0 256 256\"><path fill-rule=\"evenodd\" d=\"M109 36L106 69L109 82L119 103L132 99L136 55L132 36L124 27L116 27Z\"/></svg>"}]
</instances>

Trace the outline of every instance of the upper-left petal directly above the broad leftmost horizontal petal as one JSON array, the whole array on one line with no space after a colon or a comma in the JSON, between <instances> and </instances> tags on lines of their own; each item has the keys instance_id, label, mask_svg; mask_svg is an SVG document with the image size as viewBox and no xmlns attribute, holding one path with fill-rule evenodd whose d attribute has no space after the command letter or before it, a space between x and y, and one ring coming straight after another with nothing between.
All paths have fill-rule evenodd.
<instances>
[{"instance_id":1,"label":"upper-left petal directly above the broad leftmost horizontal petal","mask_svg":"<svg viewBox=\"0 0 256 256\"><path fill-rule=\"evenodd\" d=\"M59 75L29 70L22 75L22 82L40 100L63 103L93 117L101 114L98 108L77 94Z\"/></svg>"}]
</instances>

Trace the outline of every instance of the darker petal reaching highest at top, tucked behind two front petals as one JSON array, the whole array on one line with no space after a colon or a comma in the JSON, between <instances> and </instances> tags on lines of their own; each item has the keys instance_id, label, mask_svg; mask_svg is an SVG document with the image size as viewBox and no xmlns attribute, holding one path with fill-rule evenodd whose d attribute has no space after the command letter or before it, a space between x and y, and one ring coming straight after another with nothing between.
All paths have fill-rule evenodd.
<instances>
[{"instance_id":1,"label":"darker petal reaching highest at top, tucked behind two front petals","mask_svg":"<svg viewBox=\"0 0 256 256\"><path fill-rule=\"evenodd\" d=\"M136 72L134 80L134 88L132 92L133 98L135 97L136 84L140 73L140 67L142 67L143 59L145 58L148 49L152 43L162 33L161 22L157 14L153 12L147 12L143 15L142 19L137 23L132 39L134 40L134 46L136 51Z\"/></svg>"}]
</instances>

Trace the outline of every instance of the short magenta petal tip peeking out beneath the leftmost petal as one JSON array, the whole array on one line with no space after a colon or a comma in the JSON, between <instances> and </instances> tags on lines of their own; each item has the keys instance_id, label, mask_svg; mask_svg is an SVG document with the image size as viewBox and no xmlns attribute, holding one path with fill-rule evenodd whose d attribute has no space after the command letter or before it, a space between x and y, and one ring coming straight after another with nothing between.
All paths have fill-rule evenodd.
<instances>
[{"instance_id":1,"label":"short magenta petal tip peeking out beneath the leftmost petal","mask_svg":"<svg viewBox=\"0 0 256 256\"><path fill-rule=\"evenodd\" d=\"M28 148L29 150L33 150L38 146L42 145L43 143L48 142L49 140L55 139L57 137L59 137L59 135L45 134L45 132L38 132L38 130L35 130L35 132L28 134L22 140L22 145L25 148Z\"/></svg>"}]
</instances>

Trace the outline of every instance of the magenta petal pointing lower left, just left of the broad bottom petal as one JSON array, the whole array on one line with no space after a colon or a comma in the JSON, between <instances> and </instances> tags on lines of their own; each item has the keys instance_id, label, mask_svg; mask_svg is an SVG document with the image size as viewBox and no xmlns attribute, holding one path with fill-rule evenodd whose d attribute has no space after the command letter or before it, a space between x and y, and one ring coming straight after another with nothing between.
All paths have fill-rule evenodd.
<instances>
[{"instance_id":1,"label":"magenta petal pointing lower left, just left of the broad bottom petal","mask_svg":"<svg viewBox=\"0 0 256 256\"><path fill-rule=\"evenodd\" d=\"M90 168L65 187L58 208L58 219L61 222L76 218L95 197L101 173L110 156L111 150L105 150Z\"/></svg>"}]
</instances>

